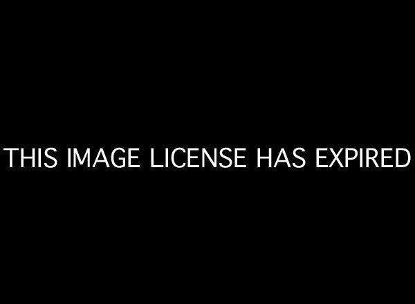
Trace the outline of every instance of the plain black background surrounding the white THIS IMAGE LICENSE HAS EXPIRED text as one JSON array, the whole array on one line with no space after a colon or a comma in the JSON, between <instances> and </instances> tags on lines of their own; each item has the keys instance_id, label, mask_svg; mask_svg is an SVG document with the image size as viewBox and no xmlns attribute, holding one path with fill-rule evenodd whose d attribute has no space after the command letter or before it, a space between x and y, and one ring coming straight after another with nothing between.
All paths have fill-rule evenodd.
<instances>
[{"instance_id":1,"label":"plain black background surrounding the white THIS IMAGE LICENSE HAS EXPIRED text","mask_svg":"<svg viewBox=\"0 0 415 304\"><path fill-rule=\"evenodd\" d=\"M172 9L20 8L2 38L1 147L246 146L250 168L3 166L8 285L116 298L405 289L413 164L318 170L313 151L413 153L409 19ZM257 147L296 146L310 155L303 170L251 160Z\"/></svg>"}]
</instances>

